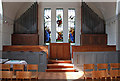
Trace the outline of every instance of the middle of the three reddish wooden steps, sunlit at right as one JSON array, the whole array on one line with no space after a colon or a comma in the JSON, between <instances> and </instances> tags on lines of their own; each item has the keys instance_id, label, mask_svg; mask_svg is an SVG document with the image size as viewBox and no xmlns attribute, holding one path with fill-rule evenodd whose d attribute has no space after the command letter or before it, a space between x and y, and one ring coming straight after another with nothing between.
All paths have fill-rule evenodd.
<instances>
[{"instance_id":1,"label":"middle of the three reddish wooden steps, sunlit at right","mask_svg":"<svg viewBox=\"0 0 120 81\"><path fill-rule=\"evenodd\" d=\"M73 64L64 64L64 63L58 63L58 64L47 64L47 68L73 68Z\"/></svg>"}]
</instances>

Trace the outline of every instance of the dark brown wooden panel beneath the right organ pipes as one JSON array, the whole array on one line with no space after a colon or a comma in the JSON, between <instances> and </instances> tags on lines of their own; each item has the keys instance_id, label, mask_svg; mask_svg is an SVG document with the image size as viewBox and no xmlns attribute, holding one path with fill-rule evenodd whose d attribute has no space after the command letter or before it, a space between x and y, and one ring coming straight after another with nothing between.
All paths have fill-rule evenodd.
<instances>
[{"instance_id":1,"label":"dark brown wooden panel beneath the right organ pipes","mask_svg":"<svg viewBox=\"0 0 120 81\"><path fill-rule=\"evenodd\" d=\"M81 45L107 45L107 34L81 34Z\"/></svg>"}]
</instances>

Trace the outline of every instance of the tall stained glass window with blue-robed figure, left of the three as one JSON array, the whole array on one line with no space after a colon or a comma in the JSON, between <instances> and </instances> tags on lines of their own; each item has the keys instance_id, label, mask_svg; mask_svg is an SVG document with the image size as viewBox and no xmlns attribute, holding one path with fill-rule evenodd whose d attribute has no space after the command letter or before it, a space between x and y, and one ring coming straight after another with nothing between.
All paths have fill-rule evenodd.
<instances>
[{"instance_id":1,"label":"tall stained glass window with blue-robed figure, left of the three","mask_svg":"<svg viewBox=\"0 0 120 81\"><path fill-rule=\"evenodd\" d=\"M51 9L44 9L44 42L51 42Z\"/></svg>"}]
</instances>

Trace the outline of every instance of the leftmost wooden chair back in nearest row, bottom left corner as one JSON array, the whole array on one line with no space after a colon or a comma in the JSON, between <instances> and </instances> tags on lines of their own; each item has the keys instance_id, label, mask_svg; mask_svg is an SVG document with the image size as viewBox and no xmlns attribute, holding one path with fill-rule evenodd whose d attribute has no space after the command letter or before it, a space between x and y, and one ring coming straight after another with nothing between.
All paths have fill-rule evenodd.
<instances>
[{"instance_id":1,"label":"leftmost wooden chair back in nearest row, bottom left corner","mask_svg":"<svg viewBox=\"0 0 120 81\"><path fill-rule=\"evenodd\" d=\"M0 71L0 78L1 79L10 79L13 78L13 71Z\"/></svg>"}]
</instances>

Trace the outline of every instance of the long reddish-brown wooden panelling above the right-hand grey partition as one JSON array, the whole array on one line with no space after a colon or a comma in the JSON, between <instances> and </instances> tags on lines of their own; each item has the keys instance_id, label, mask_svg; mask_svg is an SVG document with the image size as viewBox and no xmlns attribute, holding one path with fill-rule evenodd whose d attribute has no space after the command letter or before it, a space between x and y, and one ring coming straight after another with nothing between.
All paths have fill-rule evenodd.
<instances>
[{"instance_id":1,"label":"long reddish-brown wooden panelling above the right-hand grey partition","mask_svg":"<svg viewBox=\"0 0 120 81\"><path fill-rule=\"evenodd\" d=\"M104 52L104 51L116 51L116 46L72 46L73 52Z\"/></svg>"}]
</instances>

